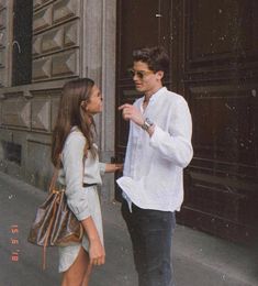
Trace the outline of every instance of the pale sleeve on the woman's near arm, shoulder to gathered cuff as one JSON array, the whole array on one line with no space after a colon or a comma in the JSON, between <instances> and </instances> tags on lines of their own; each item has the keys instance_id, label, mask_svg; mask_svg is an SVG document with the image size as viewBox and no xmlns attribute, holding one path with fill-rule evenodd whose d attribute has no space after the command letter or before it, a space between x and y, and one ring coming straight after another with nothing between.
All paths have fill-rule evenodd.
<instances>
[{"instance_id":1,"label":"pale sleeve on the woman's near arm, shoulder to gathered cuff","mask_svg":"<svg viewBox=\"0 0 258 286\"><path fill-rule=\"evenodd\" d=\"M88 199L82 187L83 150L86 139L79 132L68 136L63 150L67 205L78 220L91 216Z\"/></svg>"}]
</instances>

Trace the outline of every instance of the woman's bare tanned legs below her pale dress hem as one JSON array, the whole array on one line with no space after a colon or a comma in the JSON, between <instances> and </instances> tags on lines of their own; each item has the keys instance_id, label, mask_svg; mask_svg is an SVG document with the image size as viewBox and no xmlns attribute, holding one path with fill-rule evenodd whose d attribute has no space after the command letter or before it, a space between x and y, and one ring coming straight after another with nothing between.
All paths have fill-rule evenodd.
<instances>
[{"instance_id":1,"label":"woman's bare tanned legs below her pale dress hem","mask_svg":"<svg viewBox=\"0 0 258 286\"><path fill-rule=\"evenodd\" d=\"M76 261L69 267L69 270L63 274L61 286L88 286L88 282L86 282L87 284L82 284L82 282L85 283L85 276L87 273L89 280L89 255L83 250L83 248L80 248Z\"/></svg>"}]
</instances>

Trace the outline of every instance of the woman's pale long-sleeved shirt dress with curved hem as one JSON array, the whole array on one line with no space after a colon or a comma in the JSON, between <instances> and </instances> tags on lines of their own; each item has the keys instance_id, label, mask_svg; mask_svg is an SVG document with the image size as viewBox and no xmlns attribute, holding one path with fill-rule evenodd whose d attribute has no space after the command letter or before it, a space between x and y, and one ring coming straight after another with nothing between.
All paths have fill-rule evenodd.
<instances>
[{"instance_id":1,"label":"woman's pale long-sleeved shirt dress with curved hem","mask_svg":"<svg viewBox=\"0 0 258 286\"><path fill-rule=\"evenodd\" d=\"M58 182L66 186L67 204L78 220L91 216L103 244L98 189L97 186L83 187L83 183L101 185L101 175L104 174L105 164L99 162L98 154L93 157L90 151L88 151L83 163L86 138L76 127L71 131L63 148L64 168L59 170ZM86 233L81 243L58 248L59 272L65 272L71 266L81 246L87 252L89 251L89 240Z\"/></svg>"}]
</instances>

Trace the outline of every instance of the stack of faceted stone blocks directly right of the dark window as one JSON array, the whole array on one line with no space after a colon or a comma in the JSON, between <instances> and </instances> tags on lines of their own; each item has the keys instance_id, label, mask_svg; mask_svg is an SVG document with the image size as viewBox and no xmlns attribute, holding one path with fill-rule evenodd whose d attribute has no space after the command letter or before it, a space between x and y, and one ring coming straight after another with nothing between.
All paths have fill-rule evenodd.
<instances>
[{"instance_id":1,"label":"stack of faceted stone blocks directly right of the dark window","mask_svg":"<svg viewBox=\"0 0 258 286\"><path fill-rule=\"evenodd\" d=\"M80 3L34 0L33 81L79 75Z\"/></svg>"}]
</instances>

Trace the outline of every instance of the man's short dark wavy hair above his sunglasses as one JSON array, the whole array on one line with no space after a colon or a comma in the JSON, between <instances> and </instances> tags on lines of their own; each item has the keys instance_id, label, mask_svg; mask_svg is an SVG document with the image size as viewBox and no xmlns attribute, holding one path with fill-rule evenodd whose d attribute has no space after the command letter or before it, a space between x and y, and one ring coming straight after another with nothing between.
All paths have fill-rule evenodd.
<instances>
[{"instance_id":1,"label":"man's short dark wavy hair above his sunglasses","mask_svg":"<svg viewBox=\"0 0 258 286\"><path fill-rule=\"evenodd\" d=\"M162 70L165 74L169 69L169 57L162 46L144 47L133 52L134 62L144 62L153 72Z\"/></svg>"}]
</instances>

